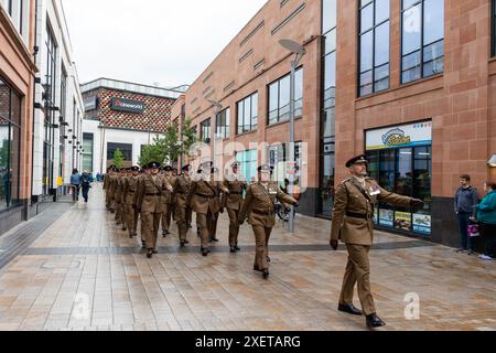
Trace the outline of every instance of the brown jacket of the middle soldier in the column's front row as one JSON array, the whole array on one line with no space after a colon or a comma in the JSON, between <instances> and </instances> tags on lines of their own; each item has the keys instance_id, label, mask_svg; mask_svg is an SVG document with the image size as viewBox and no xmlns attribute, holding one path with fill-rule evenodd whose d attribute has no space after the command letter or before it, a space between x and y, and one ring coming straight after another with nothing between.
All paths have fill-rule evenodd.
<instances>
[{"instance_id":1,"label":"brown jacket of the middle soldier in the column's front row","mask_svg":"<svg viewBox=\"0 0 496 353\"><path fill-rule=\"evenodd\" d=\"M201 176L197 176L193 180L190 188L186 204L188 204L194 212L200 214L207 214L208 210L212 213L218 213L220 211L219 194L219 182L206 181Z\"/></svg>"}]
</instances>

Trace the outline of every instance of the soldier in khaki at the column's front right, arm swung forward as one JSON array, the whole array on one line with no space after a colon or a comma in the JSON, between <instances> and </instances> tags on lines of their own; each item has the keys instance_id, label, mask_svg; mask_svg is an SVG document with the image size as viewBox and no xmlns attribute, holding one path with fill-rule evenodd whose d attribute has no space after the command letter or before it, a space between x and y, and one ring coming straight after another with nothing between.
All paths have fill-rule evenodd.
<instances>
[{"instance_id":1,"label":"soldier in khaki at the column's front right, arm swung forward","mask_svg":"<svg viewBox=\"0 0 496 353\"><path fill-rule=\"evenodd\" d=\"M269 277L269 238L276 225L276 199L298 206L296 200L284 194L279 185L271 181L271 174L270 165L263 164L258 168L258 182L248 186L238 215L239 224L242 224L248 216L248 222L254 228L256 242L254 270L263 272L265 279Z\"/></svg>"}]
</instances>

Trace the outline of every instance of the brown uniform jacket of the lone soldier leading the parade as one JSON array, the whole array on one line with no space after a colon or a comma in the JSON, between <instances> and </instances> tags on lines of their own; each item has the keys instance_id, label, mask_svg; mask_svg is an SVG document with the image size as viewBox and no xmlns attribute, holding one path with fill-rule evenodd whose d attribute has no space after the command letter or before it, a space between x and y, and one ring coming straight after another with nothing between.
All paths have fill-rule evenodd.
<instances>
[{"instance_id":1,"label":"brown uniform jacket of the lone soldier leading the parade","mask_svg":"<svg viewBox=\"0 0 496 353\"><path fill-rule=\"evenodd\" d=\"M365 190L355 176L346 179L336 189L331 239L341 238L346 244L370 246L374 240L374 206L385 202L408 207L410 201L410 197L384 190L370 178L365 179ZM351 214L366 215L367 220Z\"/></svg>"}]
</instances>

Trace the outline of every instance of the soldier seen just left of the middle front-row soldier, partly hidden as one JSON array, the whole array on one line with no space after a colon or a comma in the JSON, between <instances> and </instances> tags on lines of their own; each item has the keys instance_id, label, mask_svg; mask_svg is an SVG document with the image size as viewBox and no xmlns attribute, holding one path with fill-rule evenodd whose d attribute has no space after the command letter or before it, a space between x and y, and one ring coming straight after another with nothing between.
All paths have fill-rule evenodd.
<instances>
[{"instance_id":1,"label":"soldier seen just left of the middle front-row soldier, partly hidden","mask_svg":"<svg viewBox=\"0 0 496 353\"><path fill-rule=\"evenodd\" d=\"M186 164L182 168L182 174L174 178L174 211L175 211L175 222L177 223L179 231L179 239L181 243L181 247L184 247L185 244L188 244L187 240L187 223L186 223L186 214L190 208L187 204L187 193L191 188L191 165Z\"/></svg>"}]
</instances>

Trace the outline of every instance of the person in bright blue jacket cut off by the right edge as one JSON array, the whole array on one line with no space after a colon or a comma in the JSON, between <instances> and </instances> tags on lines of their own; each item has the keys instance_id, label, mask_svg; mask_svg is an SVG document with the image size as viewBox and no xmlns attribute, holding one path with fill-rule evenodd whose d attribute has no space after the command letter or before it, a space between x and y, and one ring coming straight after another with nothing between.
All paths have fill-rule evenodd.
<instances>
[{"instance_id":1,"label":"person in bright blue jacket cut off by the right edge","mask_svg":"<svg viewBox=\"0 0 496 353\"><path fill-rule=\"evenodd\" d=\"M479 233L486 242L486 254L479 257L484 260L496 258L496 183L486 182L484 184L486 196L476 206L476 220Z\"/></svg>"}]
</instances>

